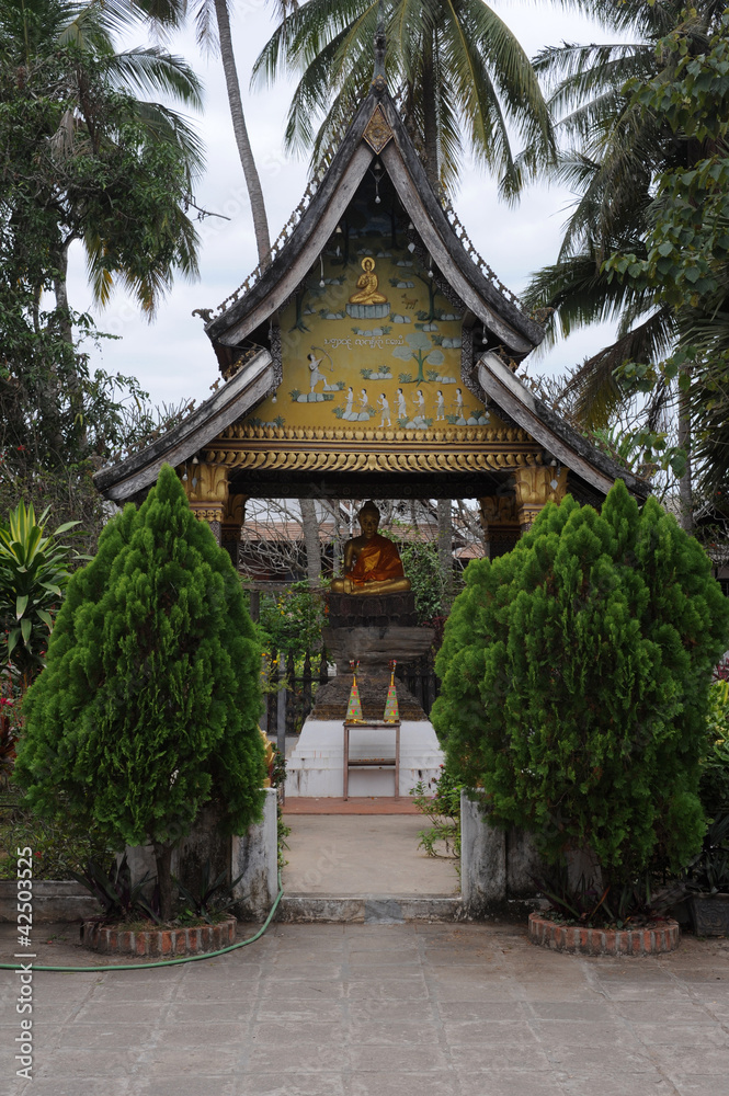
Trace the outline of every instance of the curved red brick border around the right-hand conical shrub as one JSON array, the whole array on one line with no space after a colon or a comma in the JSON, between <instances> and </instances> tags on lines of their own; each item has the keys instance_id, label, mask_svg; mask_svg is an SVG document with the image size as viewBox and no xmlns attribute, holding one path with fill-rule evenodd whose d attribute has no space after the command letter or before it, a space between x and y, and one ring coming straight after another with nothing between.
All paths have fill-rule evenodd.
<instances>
[{"instance_id":1,"label":"curved red brick border around the right-hand conical shrub","mask_svg":"<svg viewBox=\"0 0 729 1096\"><path fill-rule=\"evenodd\" d=\"M652 956L679 947L681 929L675 921L647 928L581 928L558 925L538 913L529 914L529 940L555 951L583 956Z\"/></svg>"}]
</instances>

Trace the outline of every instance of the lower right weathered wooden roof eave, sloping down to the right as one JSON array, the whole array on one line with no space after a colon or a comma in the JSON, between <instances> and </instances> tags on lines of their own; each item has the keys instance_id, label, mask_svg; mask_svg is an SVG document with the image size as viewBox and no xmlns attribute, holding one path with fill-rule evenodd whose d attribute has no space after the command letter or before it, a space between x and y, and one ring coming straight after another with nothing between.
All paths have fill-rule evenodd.
<instances>
[{"instance_id":1,"label":"lower right weathered wooden roof eave, sloping down to the right","mask_svg":"<svg viewBox=\"0 0 729 1096\"><path fill-rule=\"evenodd\" d=\"M487 396L502 408L535 442L602 494L622 479L639 501L650 494L650 483L634 476L578 434L551 408L519 380L491 351L478 364L478 379Z\"/></svg>"}]
</instances>

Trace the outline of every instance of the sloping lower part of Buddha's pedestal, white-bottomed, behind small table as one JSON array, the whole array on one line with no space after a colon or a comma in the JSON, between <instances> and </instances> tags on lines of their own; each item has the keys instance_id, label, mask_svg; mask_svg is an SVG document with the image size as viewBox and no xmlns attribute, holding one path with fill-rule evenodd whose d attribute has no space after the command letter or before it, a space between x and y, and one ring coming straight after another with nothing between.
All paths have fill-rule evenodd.
<instances>
[{"instance_id":1,"label":"sloping lower part of Buddha's pedestal, white-bottomed, behind small table","mask_svg":"<svg viewBox=\"0 0 729 1096\"><path fill-rule=\"evenodd\" d=\"M409 630L409 629L408 629ZM413 629L423 631L426 629ZM391 658L392 655L390 655ZM362 716L381 720L390 684L388 672L361 664L357 686ZM352 688L352 672L338 673L317 692L315 707L301 729L298 743L286 762L286 795L303 797L341 797L344 789L344 716ZM397 683L400 710L400 796L423 780L435 780L444 756L433 724L422 707L401 683ZM394 731L387 727L350 733L350 757L388 757L392 754ZM392 796L391 768L353 768L350 770L349 795Z\"/></svg>"}]
</instances>

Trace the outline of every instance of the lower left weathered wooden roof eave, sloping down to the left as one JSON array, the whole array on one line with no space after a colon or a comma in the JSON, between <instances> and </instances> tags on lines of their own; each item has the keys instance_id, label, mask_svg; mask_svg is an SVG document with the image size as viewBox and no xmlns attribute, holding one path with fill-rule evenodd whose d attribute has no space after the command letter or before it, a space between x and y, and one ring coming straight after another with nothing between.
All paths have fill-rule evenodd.
<instances>
[{"instance_id":1,"label":"lower left weathered wooden roof eave, sloping down to the left","mask_svg":"<svg viewBox=\"0 0 729 1096\"><path fill-rule=\"evenodd\" d=\"M183 422L138 453L96 472L93 478L96 489L105 499L126 502L157 482L162 465L176 467L189 460L274 390L273 358L267 350L260 350Z\"/></svg>"}]
</instances>

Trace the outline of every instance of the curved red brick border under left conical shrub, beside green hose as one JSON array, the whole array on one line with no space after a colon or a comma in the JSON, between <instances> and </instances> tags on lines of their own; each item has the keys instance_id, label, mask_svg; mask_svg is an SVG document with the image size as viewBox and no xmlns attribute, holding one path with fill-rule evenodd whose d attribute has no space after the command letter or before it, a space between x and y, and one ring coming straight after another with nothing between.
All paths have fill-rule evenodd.
<instances>
[{"instance_id":1,"label":"curved red brick border under left conical shrub, beside green hose","mask_svg":"<svg viewBox=\"0 0 729 1096\"><path fill-rule=\"evenodd\" d=\"M96 921L84 921L81 926L81 944L92 951L105 955L152 956L172 958L174 956L202 955L218 951L236 943L235 917L227 917L216 925L200 928L144 928L138 933L124 932L118 926L100 925Z\"/></svg>"}]
</instances>

